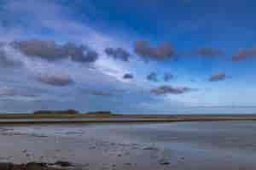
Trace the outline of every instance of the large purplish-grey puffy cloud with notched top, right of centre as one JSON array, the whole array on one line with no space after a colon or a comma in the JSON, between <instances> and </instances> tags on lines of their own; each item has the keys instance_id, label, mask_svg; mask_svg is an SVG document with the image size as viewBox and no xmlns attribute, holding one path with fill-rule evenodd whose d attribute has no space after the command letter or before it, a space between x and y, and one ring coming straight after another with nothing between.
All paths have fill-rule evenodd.
<instances>
[{"instance_id":1,"label":"large purplish-grey puffy cloud with notched top, right of centre","mask_svg":"<svg viewBox=\"0 0 256 170\"><path fill-rule=\"evenodd\" d=\"M174 48L169 42L160 42L157 47L153 47L145 40L137 40L134 52L149 59L168 59L174 55Z\"/></svg>"}]
</instances>

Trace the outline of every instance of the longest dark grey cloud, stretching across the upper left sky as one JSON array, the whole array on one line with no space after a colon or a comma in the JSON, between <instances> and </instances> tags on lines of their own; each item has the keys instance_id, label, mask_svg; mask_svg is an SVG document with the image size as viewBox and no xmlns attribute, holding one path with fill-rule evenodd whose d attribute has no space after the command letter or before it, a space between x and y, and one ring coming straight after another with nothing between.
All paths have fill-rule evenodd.
<instances>
[{"instance_id":1,"label":"longest dark grey cloud, stretching across the upper left sky","mask_svg":"<svg viewBox=\"0 0 256 170\"><path fill-rule=\"evenodd\" d=\"M70 58L77 62L94 62L98 58L96 51L84 45L78 46L71 42L59 45L55 41L32 39L14 41L10 44L22 54L30 57L40 57L49 61Z\"/></svg>"}]
</instances>

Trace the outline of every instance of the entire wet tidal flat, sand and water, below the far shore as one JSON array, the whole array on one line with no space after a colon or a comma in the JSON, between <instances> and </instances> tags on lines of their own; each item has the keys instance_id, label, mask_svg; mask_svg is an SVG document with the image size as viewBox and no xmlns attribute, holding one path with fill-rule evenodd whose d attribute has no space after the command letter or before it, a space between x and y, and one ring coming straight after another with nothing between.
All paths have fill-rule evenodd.
<instances>
[{"instance_id":1,"label":"entire wet tidal flat, sand and water, below the far shore","mask_svg":"<svg viewBox=\"0 0 256 170\"><path fill-rule=\"evenodd\" d=\"M256 122L0 126L0 161L75 169L256 169Z\"/></svg>"}]
</instances>

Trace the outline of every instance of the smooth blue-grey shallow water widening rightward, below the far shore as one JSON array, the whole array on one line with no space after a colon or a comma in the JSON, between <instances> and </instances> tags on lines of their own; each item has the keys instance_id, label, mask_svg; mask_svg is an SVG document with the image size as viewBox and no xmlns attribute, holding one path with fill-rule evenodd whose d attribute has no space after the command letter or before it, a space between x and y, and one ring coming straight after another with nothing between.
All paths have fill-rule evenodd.
<instances>
[{"instance_id":1,"label":"smooth blue-grey shallow water widening rightward, below the far shore","mask_svg":"<svg viewBox=\"0 0 256 170\"><path fill-rule=\"evenodd\" d=\"M6 129L5 129L6 128ZM34 136L101 139L119 144L149 144L174 150L190 159L253 164L256 122L172 122L49 124L3 127L6 132Z\"/></svg>"}]
</instances>

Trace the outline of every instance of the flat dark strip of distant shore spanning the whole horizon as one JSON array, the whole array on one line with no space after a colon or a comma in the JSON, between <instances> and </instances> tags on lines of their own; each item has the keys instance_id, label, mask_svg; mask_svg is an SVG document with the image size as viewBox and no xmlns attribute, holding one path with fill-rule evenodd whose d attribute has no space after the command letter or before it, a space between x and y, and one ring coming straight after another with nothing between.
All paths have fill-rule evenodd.
<instances>
[{"instance_id":1,"label":"flat dark strip of distant shore spanning the whole horizon","mask_svg":"<svg viewBox=\"0 0 256 170\"><path fill-rule=\"evenodd\" d=\"M255 115L0 114L0 123L256 121Z\"/></svg>"}]
</instances>

